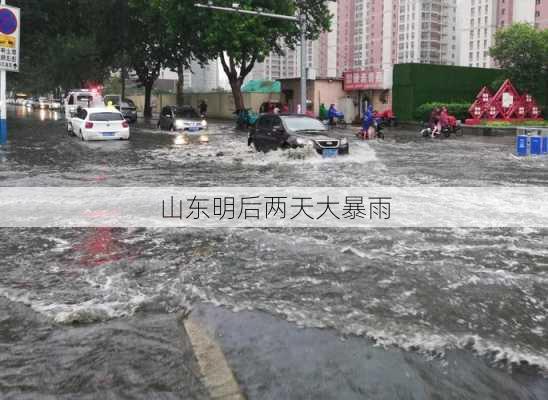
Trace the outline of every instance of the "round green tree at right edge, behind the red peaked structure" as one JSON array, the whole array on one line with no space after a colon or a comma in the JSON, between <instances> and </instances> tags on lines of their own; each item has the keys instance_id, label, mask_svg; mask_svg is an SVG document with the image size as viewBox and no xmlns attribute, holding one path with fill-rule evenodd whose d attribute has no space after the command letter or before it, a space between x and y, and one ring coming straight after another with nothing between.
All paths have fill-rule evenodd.
<instances>
[{"instance_id":1,"label":"round green tree at right edge, behind the red peaked structure","mask_svg":"<svg viewBox=\"0 0 548 400\"><path fill-rule=\"evenodd\" d=\"M526 23L501 29L490 54L517 87L548 102L548 29Z\"/></svg>"}]
</instances>

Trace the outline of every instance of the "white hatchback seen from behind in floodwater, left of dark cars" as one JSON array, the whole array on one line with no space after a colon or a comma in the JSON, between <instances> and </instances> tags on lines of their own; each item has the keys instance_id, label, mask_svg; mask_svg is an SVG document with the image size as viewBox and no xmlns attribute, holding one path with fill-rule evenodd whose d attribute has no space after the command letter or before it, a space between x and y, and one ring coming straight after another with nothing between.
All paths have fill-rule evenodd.
<instances>
[{"instance_id":1,"label":"white hatchback seen from behind in floodwater, left of dark cars","mask_svg":"<svg viewBox=\"0 0 548 400\"><path fill-rule=\"evenodd\" d=\"M113 108L79 108L67 124L69 134L82 140L129 139L129 124Z\"/></svg>"}]
</instances>

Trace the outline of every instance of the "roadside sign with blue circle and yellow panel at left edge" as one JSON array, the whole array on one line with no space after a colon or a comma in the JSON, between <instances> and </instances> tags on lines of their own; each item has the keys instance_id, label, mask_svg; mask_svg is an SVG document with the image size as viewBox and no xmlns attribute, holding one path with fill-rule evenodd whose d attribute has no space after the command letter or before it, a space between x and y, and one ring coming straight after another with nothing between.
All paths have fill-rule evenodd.
<instances>
[{"instance_id":1,"label":"roadside sign with blue circle and yellow panel at left edge","mask_svg":"<svg viewBox=\"0 0 548 400\"><path fill-rule=\"evenodd\" d=\"M19 72L20 11L0 6L0 70Z\"/></svg>"}]
</instances>

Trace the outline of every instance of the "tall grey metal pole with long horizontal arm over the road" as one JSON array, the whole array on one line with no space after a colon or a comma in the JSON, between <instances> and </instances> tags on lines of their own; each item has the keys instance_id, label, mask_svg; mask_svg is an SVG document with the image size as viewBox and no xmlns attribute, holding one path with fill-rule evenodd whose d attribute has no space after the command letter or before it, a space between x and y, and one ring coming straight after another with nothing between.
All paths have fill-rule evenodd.
<instances>
[{"instance_id":1,"label":"tall grey metal pole with long horizontal arm over the road","mask_svg":"<svg viewBox=\"0 0 548 400\"><path fill-rule=\"evenodd\" d=\"M212 1L208 1L207 4L196 3L194 4L194 6L199 8L208 8L210 10L233 12L237 14L248 14L258 17L283 19L286 21L297 22L301 31L301 113L306 113L306 15L303 12L301 12L299 16L295 17L291 15L264 12L262 8L258 8L257 10L244 10L240 8L239 3L232 3L232 7L220 7L213 5Z\"/></svg>"}]
</instances>

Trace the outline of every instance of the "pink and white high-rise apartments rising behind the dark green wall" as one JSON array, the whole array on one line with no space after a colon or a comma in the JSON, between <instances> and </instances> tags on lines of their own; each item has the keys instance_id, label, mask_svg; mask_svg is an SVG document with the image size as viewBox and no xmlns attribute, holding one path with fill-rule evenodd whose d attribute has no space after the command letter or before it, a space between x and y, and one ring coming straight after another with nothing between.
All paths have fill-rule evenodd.
<instances>
[{"instance_id":1,"label":"pink and white high-rise apartments rising behind the dark green wall","mask_svg":"<svg viewBox=\"0 0 548 400\"><path fill-rule=\"evenodd\" d=\"M389 89L397 63L458 63L456 0L339 0L338 32L338 71L357 71L356 87Z\"/></svg>"}]
</instances>

